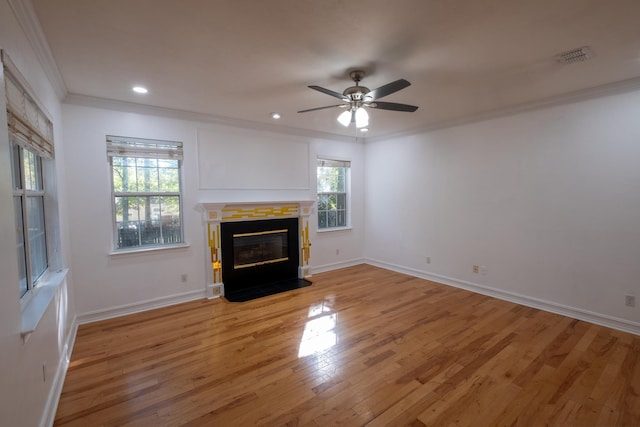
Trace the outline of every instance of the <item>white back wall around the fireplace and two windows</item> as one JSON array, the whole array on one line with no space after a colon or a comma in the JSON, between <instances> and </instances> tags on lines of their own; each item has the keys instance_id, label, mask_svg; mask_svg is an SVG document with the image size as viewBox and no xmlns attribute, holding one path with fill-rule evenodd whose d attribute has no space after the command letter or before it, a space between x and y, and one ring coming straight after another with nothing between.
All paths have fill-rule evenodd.
<instances>
[{"instance_id":1,"label":"white back wall around the fireplace and two windows","mask_svg":"<svg viewBox=\"0 0 640 427\"><path fill-rule=\"evenodd\" d=\"M204 295L205 228L201 202L315 200L318 154L352 160L352 230L316 235L311 230L311 265L361 261L364 146L285 133L239 129L139 112L63 105L65 164L69 181L69 230L76 305L85 319ZM188 248L111 255L112 213L105 135L182 141L185 240ZM265 154L265 147L294 160L289 170ZM258 160L265 160L262 165ZM301 164L302 163L302 164ZM251 165L250 168L247 165ZM265 168L266 166L266 168ZM221 180L226 168L233 180ZM227 175L225 175L226 177ZM311 222L315 227L315 221ZM336 255L336 249L340 255ZM182 283L182 274L188 275ZM120 310L120 311L118 311ZM92 317L93 316L93 317Z\"/></svg>"}]
</instances>

